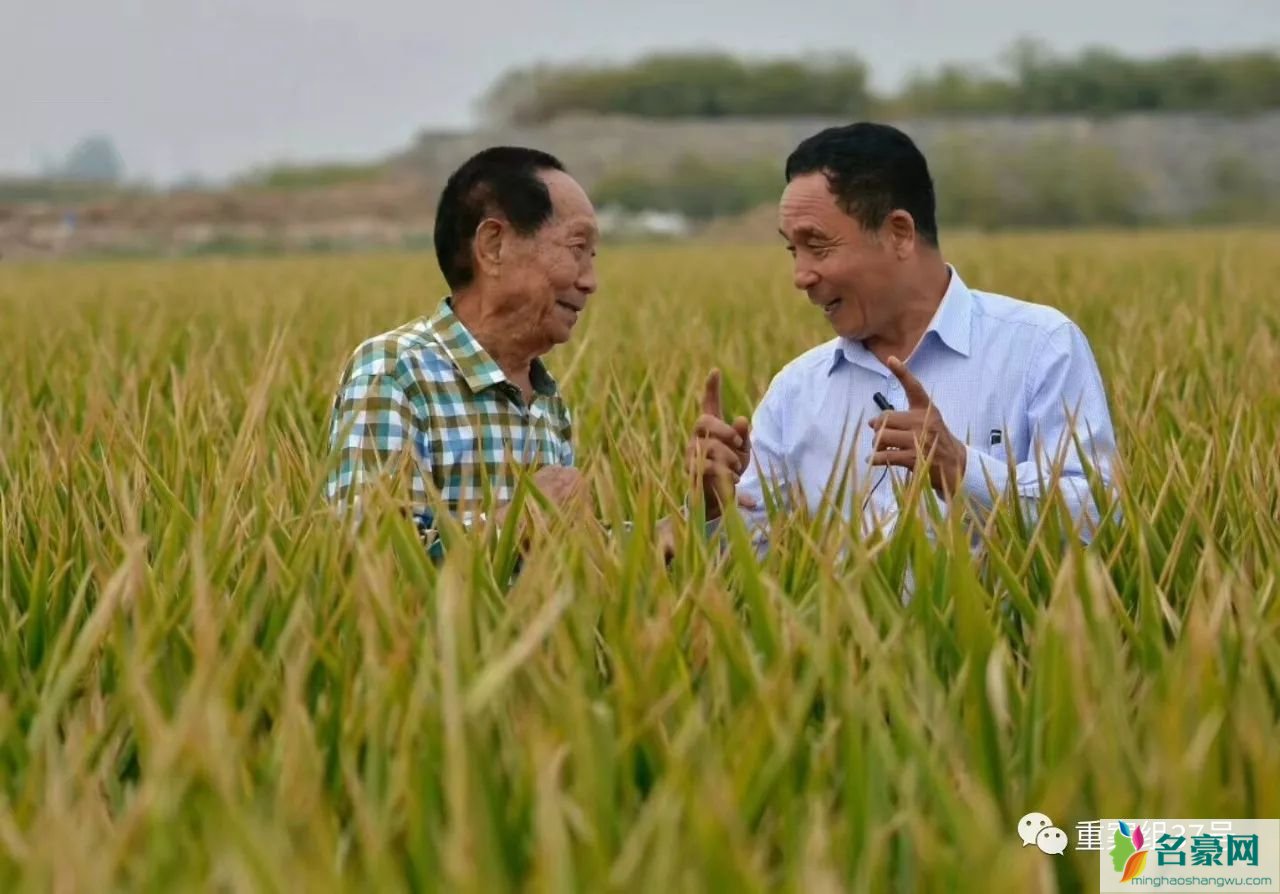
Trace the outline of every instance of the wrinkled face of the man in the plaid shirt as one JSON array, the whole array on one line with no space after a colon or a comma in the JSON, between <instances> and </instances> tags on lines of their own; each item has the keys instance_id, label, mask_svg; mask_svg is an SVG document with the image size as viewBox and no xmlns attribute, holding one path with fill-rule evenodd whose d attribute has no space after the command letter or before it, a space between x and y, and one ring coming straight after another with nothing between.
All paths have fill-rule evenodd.
<instances>
[{"instance_id":1,"label":"wrinkled face of the man in the plaid shirt","mask_svg":"<svg viewBox=\"0 0 1280 894\"><path fill-rule=\"evenodd\" d=\"M586 301L595 292L595 209L568 174L540 174L552 199L552 216L538 232L513 231L504 241L503 311L525 341L550 350L568 341Z\"/></svg>"}]
</instances>

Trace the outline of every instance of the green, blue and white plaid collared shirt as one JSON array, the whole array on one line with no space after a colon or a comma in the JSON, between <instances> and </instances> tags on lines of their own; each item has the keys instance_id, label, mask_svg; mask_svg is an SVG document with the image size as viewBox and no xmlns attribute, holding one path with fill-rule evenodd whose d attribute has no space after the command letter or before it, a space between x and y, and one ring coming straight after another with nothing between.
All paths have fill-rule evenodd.
<instances>
[{"instance_id":1,"label":"green, blue and white plaid collared shirt","mask_svg":"<svg viewBox=\"0 0 1280 894\"><path fill-rule=\"evenodd\" d=\"M356 348L333 406L332 502L352 502L361 487L410 462L410 502L429 543L440 506L471 524L484 506L511 500L516 466L573 465L571 420L541 361L530 378L534 401L454 315L449 298ZM438 497L436 497L438 494Z\"/></svg>"}]
</instances>

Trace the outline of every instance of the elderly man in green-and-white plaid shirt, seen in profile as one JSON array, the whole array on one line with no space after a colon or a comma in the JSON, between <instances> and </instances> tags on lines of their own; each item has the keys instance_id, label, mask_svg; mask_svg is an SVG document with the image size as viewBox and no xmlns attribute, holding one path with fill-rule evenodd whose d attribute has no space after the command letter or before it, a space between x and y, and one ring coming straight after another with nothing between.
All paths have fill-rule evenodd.
<instances>
[{"instance_id":1,"label":"elderly man in green-and-white plaid shirt, seen in profile","mask_svg":"<svg viewBox=\"0 0 1280 894\"><path fill-rule=\"evenodd\" d=\"M486 149L449 178L435 254L451 295L356 348L333 407L338 503L403 467L424 539L433 507L500 524L520 467L557 503L581 497L571 420L540 357L595 292L595 211L553 156Z\"/></svg>"}]
</instances>

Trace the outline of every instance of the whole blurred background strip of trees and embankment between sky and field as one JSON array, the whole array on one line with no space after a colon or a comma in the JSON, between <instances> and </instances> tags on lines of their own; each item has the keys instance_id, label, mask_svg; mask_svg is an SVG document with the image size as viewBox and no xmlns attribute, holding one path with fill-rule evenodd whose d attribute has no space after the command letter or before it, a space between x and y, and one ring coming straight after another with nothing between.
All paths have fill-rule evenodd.
<instances>
[{"instance_id":1,"label":"whole blurred background strip of trees and embankment between sky and field","mask_svg":"<svg viewBox=\"0 0 1280 894\"><path fill-rule=\"evenodd\" d=\"M131 181L93 133L44 177L0 177L0 257L420 248L448 173L495 143L559 155L614 240L710 228L758 241L773 238L786 154L868 118L922 146L943 227L1280 222L1275 49L1138 59L1024 40L992 65L941 64L893 93L870 85L847 54L516 68L481 99L476 129L422 131L383 159L262 164L165 188Z\"/></svg>"}]
</instances>

